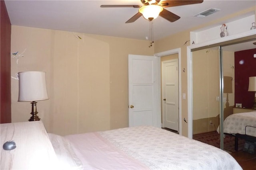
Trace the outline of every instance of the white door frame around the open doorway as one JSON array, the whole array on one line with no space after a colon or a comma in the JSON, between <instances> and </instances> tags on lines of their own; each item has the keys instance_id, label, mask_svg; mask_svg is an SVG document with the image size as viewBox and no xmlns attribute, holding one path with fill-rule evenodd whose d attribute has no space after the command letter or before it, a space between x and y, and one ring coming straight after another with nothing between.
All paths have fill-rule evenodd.
<instances>
[{"instance_id":1,"label":"white door frame around the open doorway","mask_svg":"<svg viewBox=\"0 0 256 170\"><path fill-rule=\"evenodd\" d=\"M168 50L168 51L163 51L160 53L156 53L154 54L154 56L158 57L157 58L157 89L158 89L158 106L160 106L160 108L158 108L158 111L160 109L160 113L161 113L161 86L162 86L162 80L161 80L161 59L160 57L166 56L166 55L172 55L172 54L177 54L178 53L178 87L179 87L179 134L182 135L182 127L181 127L181 123L182 123L182 118L181 118L181 113L182 113L182 104L181 104L181 49L177 48L177 49L172 49L172 50ZM162 115L158 114L158 115ZM162 121L161 117L160 120Z\"/></svg>"}]
</instances>

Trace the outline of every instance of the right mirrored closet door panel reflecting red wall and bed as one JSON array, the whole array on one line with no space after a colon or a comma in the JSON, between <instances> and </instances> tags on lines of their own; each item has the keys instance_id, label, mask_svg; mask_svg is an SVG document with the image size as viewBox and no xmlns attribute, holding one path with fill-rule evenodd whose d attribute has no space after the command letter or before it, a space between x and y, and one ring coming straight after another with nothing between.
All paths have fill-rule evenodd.
<instances>
[{"instance_id":1,"label":"right mirrored closet door panel reflecting red wall and bed","mask_svg":"<svg viewBox=\"0 0 256 170\"><path fill-rule=\"evenodd\" d=\"M254 134L249 135L255 136L256 134L255 129L252 127L246 127L246 125L255 126L256 110L252 108L254 92L248 90L249 77L256 76L256 57L254 56L254 54L256 54L256 45L254 45L254 43L255 40L222 47L224 80L223 149L227 152L244 150L244 147L246 147L245 143L247 140L243 139L244 135L237 135L238 140L236 146L234 146L235 137L232 134L248 134L251 132ZM248 113L251 111L254 113ZM237 113L240 113L241 115L236 115ZM241 119L238 119L238 116ZM254 117L254 122L249 118L250 116ZM249 146L246 151L249 151Z\"/></svg>"}]
</instances>

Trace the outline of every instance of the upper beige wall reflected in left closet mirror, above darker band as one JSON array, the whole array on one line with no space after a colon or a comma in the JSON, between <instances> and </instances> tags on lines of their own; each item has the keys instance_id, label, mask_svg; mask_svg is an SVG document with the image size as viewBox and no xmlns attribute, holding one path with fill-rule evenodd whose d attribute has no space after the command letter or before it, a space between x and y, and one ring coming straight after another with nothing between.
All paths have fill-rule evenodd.
<instances>
[{"instance_id":1,"label":"upper beige wall reflected in left closet mirror, above darker band","mask_svg":"<svg viewBox=\"0 0 256 170\"><path fill-rule=\"evenodd\" d=\"M218 47L192 52L193 120L219 115L220 62ZM207 125L209 123L207 122Z\"/></svg>"}]
</instances>

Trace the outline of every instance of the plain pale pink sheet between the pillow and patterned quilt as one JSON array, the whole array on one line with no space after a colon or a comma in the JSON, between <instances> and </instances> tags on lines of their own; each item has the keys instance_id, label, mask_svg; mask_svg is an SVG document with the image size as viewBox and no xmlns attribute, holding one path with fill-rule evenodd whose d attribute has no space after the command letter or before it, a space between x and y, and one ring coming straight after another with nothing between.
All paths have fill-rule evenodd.
<instances>
[{"instance_id":1,"label":"plain pale pink sheet between the pillow and patterned quilt","mask_svg":"<svg viewBox=\"0 0 256 170\"><path fill-rule=\"evenodd\" d=\"M81 160L83 169L146 170L147 166L117 149L98 133L65 136Z\"/></svg>"}]
</instances>

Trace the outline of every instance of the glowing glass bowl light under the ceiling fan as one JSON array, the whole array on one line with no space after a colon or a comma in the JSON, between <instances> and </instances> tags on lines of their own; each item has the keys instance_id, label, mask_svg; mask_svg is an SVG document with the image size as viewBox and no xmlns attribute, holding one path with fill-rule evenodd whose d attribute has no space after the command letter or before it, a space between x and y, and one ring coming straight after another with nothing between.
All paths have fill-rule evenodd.
<instances>
[{"instance_id":1,"label":"glowing glass bowl light under the ceiling fan","mask_svg":"<svg viewBox=\"0 0 256 170\"><path fill-rule=\"evenodd\" d=\"M160 12L162 12L163 8L162 6L158 5L147 5L142 6L139 9L139 12L143 15L143 17L147 20L156 19Z\"/></svg>"}]
</instances>

